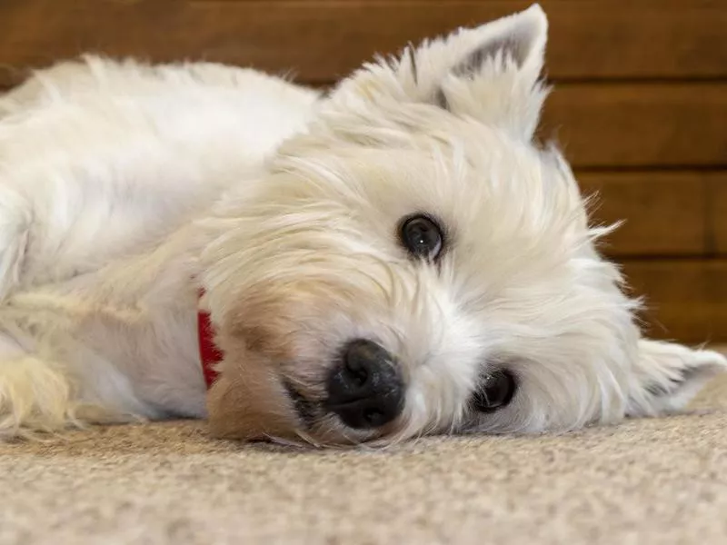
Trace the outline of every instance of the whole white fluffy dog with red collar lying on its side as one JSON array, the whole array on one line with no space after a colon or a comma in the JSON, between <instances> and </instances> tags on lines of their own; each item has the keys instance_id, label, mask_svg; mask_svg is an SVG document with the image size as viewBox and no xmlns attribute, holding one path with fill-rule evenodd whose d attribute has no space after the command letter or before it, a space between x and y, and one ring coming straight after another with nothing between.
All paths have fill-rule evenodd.
<instances>
[{"instance_id":1,"label":"whole white fluffy dog with red collar lying on its side","mask_svg":"<svg viewBox=\"0 0 727 545\"><path fill-rule=\"evenodd\" d=\"M533 143L546 26L534 5L328 96L98 57L6 94L0 435L192 417L332 445L682 409L727 362L640 338L607 230Z\"/></svg>"}]
</instances>

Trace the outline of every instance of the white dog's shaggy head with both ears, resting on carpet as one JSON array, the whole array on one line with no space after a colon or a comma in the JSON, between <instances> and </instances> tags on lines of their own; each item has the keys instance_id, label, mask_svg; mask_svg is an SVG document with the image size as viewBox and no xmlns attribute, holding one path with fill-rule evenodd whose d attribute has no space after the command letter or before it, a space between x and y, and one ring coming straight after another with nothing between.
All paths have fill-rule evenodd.
<instances>
[{"instance_id":1,"label":"white dog's shaggy head with both ears, resting on carpet","mask_svg":"<svg viewBox=\"0 0 727 545\"><path fill-rule=\"evenodd\" d=\"M533 6L369 64L207 222L216 434L320 444L573 429L724 367L640 340L573 173L533 143Z\"/></svg>"}]
</instances>

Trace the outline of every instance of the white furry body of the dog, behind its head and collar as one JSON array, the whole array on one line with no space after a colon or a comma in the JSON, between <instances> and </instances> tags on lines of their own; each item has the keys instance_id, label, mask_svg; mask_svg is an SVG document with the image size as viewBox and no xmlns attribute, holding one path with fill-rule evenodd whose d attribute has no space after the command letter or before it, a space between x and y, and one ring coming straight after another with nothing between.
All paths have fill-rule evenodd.
<instances>
[{"instance_id":1,"label":"white furry body of the dog, behind its head and collar","mask_svg":"<svg viewBox=\"0 0 727 545\"><path fill-rule=\"evenodd\" d=\"M169 242L315 99L251 70L97 57L0 99L1 431L54 429L79 407L205 416L190 241Z\"/></svg>"}]
</instances>

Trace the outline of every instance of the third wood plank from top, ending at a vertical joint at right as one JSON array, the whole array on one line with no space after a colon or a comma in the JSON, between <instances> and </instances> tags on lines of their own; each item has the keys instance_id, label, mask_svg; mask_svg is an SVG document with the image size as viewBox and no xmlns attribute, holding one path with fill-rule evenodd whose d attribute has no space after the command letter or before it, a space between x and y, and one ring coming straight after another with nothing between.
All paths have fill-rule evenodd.
<instances>
[{"instance_id":1,"label":"third wood plank from top, ending at a vertical joint at right","mask_svg":"<svg viewBox=\"0 0 727 545\"><path fill-rule=\"evenodd\" d=\"M597 193L593 224L622 226L605 240L612 256L711 253L709 191L727 173L576 173L584 195Z\"/></svg>"}]
</instances>

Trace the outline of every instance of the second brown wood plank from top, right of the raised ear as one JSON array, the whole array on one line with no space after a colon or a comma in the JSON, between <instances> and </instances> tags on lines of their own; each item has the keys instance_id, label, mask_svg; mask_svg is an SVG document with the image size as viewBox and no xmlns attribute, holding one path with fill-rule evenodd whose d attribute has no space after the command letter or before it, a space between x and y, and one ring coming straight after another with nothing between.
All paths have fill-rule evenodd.
<instances>
[{"instance_id":1,"label":"second brown wood plank from top, right of the raised ear","mask_svg":"<svg viewBox=\"0 0 727 545\"><path fill-rule=\"evenodd\" d=\"M582 167L724 166L727 83L563 84L542 134Z\"/></svg>"}]
</instances>

